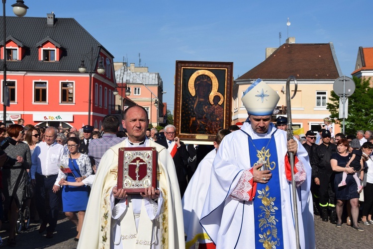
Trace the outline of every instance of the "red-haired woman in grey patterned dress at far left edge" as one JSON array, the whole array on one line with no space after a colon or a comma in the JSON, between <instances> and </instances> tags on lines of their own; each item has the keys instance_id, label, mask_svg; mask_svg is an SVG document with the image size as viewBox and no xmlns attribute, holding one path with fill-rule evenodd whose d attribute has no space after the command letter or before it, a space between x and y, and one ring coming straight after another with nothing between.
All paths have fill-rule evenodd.
<instances>
[{"instance_id":1,"label":"red-haired woman in grey patterned dress at far left edge","mask_svg":"<svg viewBox=\"0 0 373 249\"><path fill-rule=\"evenodd\" d=\"M9 144L4 152L13 163L6 162L2 167L2 186L5 196L4 209L8 210L10 225L7 244L15 246L15 226L18 219L18 209L22 202L24 187L28 181L27 169L31 166L31 153L27 144L23 143L24 131L22 125L9 125L7 134L17 143ZM10 163L10 164L9 164Z\"/></svg>"}]
</instances>

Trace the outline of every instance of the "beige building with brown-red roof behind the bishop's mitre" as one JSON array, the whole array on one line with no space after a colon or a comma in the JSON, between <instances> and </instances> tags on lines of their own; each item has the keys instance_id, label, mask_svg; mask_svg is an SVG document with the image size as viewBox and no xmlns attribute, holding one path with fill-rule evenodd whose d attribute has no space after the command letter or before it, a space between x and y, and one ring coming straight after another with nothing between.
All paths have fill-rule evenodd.
<instances>
[{"instance_id":1,"label":"beige building with brown-red roof behind the bishop's mitre","mask_svg":"<svg viewBox=\"0 0 373 249\"><path fill-rule=\"evenodd\" d=\"M248 117L241 97L247 87L258 78L270 84L280 95L273 121L280 115L286 116L286 80L293 75L298 82L296 95L291 100L294 130L320 130L323 119L330 115L326 103L330 101L333 83L342 76L333 43L285 43L277 49L267 49L267 56L265 61L235 80L232 124L244 122ZM290 90L292 95L293 81ZM341 132L339 125L333 124L333 128L334 134Z\"/></svg>"}]
</instances>

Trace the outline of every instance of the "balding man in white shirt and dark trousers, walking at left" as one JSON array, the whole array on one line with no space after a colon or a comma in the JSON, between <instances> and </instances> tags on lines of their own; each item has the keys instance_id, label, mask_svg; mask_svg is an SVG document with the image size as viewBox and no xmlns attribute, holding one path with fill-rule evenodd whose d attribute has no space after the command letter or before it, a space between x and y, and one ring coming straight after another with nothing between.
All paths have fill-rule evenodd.
<instances>
[{"instance_id":1,"label":"balding man in white shirt and dark trousers, walking at left","mask_svg":"<svg viewBox=\"0 0 373 249\"><path fill-rule=\"evenodd\" d=\"M53 237L54 229L57 225L58 212L61 203L60 185L61 180L58 177L60 168L60 158L65 154L65 149L62 145L56 143L57 129L48 127L45 130L45 142L36 145L35 151L32 154L31 166L31 181L35 186L36 208L39 216L43 220L39 228L39 233L47 230L46 238ZM47 216L45 209L45 198L49 195L50 212ZM49 226L47 227L47 224Z\"/></svg>"}]
</instances>

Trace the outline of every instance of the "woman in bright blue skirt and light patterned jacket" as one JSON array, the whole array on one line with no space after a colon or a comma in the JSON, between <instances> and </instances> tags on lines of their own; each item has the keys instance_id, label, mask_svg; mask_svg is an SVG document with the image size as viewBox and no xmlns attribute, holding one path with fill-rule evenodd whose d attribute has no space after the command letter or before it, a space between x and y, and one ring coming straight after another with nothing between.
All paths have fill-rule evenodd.
<instances>
[{"instance_id":1,"label":"woman in bright blue skirt and light patterned jacket","mask_svg":"<svg viewBox=\"0 0 373 249\"><path fill-rule=\"evenodd\" d=\"M86 154L79 153L79 139L70 137L67 140L67 148L70 154L61 157L61 164L69 166L67 173L63 173L60 185L66 179L67 181L80 182L92 174L90 158ZM76 226L78 235L75 241L79 241L80 231L83 225L84 215L86 214L88 204L89 190L87 186L74 187L64 185L62 189L62 206L65 215ZM78 213L78 216L77 214Z\"/></svg>"}]
</instances>

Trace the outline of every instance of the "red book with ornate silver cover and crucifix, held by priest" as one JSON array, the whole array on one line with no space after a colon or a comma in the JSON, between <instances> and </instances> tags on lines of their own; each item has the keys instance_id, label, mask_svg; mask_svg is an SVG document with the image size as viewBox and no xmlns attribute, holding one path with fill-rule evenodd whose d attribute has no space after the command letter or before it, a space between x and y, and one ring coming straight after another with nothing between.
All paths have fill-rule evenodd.
<instances>
[{"instance_id":1,"label":"red book with ornate silver cover and crucifix, held by priest","mask_svg":"<svg viewBox=\"0 0 373 249\"><path fill-rule=\"evenodd\" d=\"M155 147L119 148L117 188L128 194L156 187L157 151Z\"/></svg>"}]
</instances>

